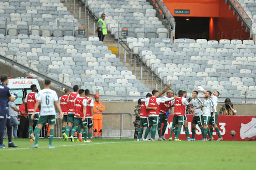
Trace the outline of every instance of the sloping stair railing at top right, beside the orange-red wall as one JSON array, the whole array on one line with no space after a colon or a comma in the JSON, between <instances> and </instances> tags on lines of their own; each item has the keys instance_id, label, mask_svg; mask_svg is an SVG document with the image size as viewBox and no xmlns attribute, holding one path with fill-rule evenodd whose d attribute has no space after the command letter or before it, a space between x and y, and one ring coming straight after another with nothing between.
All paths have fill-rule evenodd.
<instances>
[{"instance_id":1,"label":"sloping stair railing at top right, beside the orange-red wall","mask_svg":"<svg viewBox=\"0 0 256 170\"><path fill-rule=\"evenodd\" d=\"M236 13L238 14L239 18L242 20L242 26L243 23L246 26L246 29L248 29L250 31L250 38L252 37L252 19L247 15L247 13L244 11L244 8L240 5L240 3L237 0L227 0L230 4L230 6L232 6L232 8L234 9L234 11L236 11Z\"/></svg>"}]
</instances>

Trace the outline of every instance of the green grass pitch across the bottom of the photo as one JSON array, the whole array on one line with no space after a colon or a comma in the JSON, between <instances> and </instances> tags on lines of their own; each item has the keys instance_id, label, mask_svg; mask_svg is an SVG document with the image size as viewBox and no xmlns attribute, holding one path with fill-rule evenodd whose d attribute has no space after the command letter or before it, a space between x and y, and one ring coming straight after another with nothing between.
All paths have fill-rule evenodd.
<instances>
[{"instance_id":1,"label":"green grass pitch across the bottom of the photo","mask_svg":"<svg viewBox=\"0 0 256 170\"><path fill-rule=\"evenodd\" d=\"M0 170L251 170L256 143L238 141L142 141L93 139L91 143L54 139L14 139L18 148L0 149ZM7 145L7 140L4 140Z\"/></svg>"}]
</instances>

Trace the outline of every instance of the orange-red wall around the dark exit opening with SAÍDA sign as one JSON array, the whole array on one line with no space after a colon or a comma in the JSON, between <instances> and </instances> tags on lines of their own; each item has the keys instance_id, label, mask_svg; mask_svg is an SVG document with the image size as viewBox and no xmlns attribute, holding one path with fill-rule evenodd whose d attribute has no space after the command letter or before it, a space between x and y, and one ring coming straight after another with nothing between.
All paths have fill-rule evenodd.
<instances>
[{"instance_id":1,"label":"orange-red wall around the dark exit opening with SA\u00cdDA sign","mask_svg":"<svg viewBox=\"0 0 256 170\"><path fill-rule=\"evenodd\" d=\"M209 17L209 39L248 39L249 32L237 21L225 0L164 0L172 15L182 17ZM175 9L190 10L190 14L175 14Z\"/></svg>"}]
</instances>

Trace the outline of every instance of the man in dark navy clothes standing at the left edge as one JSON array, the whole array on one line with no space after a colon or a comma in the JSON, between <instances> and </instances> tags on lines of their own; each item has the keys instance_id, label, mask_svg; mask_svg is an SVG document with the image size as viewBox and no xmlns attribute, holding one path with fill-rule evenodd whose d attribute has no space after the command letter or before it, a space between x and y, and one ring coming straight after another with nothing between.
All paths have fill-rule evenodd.
<instances>
[{"instance_id":1,"label":"man in dark navy clothes standing at the left edge","mask_svg":"<svg viewBox=\"0 0 256 170\"><path fill-rule=\"evenodd\" d=\"M8 112L7 100L13 102L18 96L8 88L8 77L3 74L0 77L0 148L6 148L3 144L4 127L7 127L8 147L18 147L12 142L12 124Z\"/></svg>"}]
</instances>

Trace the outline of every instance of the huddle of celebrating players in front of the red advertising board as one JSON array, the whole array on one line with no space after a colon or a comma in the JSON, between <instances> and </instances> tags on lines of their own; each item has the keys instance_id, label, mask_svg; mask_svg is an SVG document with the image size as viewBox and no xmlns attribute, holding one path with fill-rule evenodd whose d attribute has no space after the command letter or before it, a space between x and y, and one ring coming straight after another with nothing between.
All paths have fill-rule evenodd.
<instances>
[{"instance_id":1,"label":"huddle of celebrating players in front of the red advertising board","mask_svg":"<svg viewBox=\"0 0 256 170\"><path fill-rule=\"evenodd\" d=\"M167 88L169 88L169 85ZM167 90L165 89L165 91ZM198 91L204 93L204 102L198 97ZM161 92L162 93L162 92ZM179 135L181 127L184 126L185 134L188 141L194 141L196 134L196 124L201 129L202 141L212 141L213 128L215 128L218 139L223 140L220 135L220 130L217 126L218 122L218 96L220 93L215 90L214 92L206 91L201 86L196 87L196 90L192 93L192 100L188 102L186 98L186 91L179 90L178 96L173 96L172 90L167 91L167 95L160 98L157 89L152 91L152 94L148 93L145 99L140 99L140 128L138 130L138 141L140 140L155 140L156 127L158 126L158 140L167 140L164 137L164 133L167 127L167 115L166 113L171 107L174 107L174 117L172 120L171 136L168 140L172 140L173 132L175 134L174 140L180 141ZM193 114L192 120L192 138L189 136L188 131L188 119L186 113ZM164 124L162 127L162 123ZM208 128L209 126L209 128ZM142 138L144 127L146 128L144 138ZM150 132L150 139L147 139ZM207 135L209 138L207 139Z\"/></svg>"}]
</instances>

